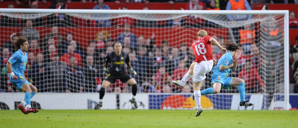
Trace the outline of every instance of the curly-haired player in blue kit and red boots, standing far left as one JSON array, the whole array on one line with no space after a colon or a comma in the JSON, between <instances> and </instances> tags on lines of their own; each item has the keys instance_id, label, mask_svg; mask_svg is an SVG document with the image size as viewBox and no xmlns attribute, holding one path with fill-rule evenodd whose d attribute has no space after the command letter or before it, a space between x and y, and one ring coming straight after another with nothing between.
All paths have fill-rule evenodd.
<instances>
[{"instance_id":1,"label":"curly-haired player in blue kit and red boots, standing far left","mask_svg":"<svg viewBox=\"0 0 298 128\"><path fill-rule=\"evenodd\" d=\"M10 73L10 82L20 92L25 92L24 100L18 104L18 108L24 114L37 113L38 109L31 107L31 98L37 93L37 89L24 75L26 64L28 61L28 54L26 51L29 49L28 40L21 36L14 42L16 52L14 52L7 61L7 70Z\"/></svg>"}]
</instances>

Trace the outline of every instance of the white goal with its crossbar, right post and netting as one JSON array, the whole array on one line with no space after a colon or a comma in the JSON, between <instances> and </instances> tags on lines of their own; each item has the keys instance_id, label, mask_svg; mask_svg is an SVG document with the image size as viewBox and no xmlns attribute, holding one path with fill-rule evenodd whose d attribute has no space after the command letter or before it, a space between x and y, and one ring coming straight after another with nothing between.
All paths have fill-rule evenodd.
<instances>
[{"instance_id":1,"label":"white goal with its crossbar, right post and netting","mask_svg":"<svg viewBox=\"0 0 298 128\"><path fill-rule=\"evenodd\" d=\"M96 101L105 77L105 57L113 51L113 43L120 42L138 73L132 75L138 83L137 97L148 97L148 109L195 109L192 79L183 89L171 80L188 71L194 61L191 43L204 29L219 43L230 40L242 46L237 69L229 77L245 80L246 99L255 104L238 108L238 88L233 86L217 95L202 96L204 109L288 109L284 104L289 85L285 73L288 51L284 50L288 50L286 11L24 11L0 13L1 93L17 92L5 64L15 51L12 42L18 36L29 41L25 76L40 95L68 93L78 99L78 93L94 94ZM219 48L212 45L212 51L219 60ZM201 90L212 87L211 74L206 74ZM131 86L116 80L107 87L104 99L122 93L131 98ZM51 98L55 96L47 97ZM116 98L119 102L119 95Z\"/></svg>"}]
</instances>

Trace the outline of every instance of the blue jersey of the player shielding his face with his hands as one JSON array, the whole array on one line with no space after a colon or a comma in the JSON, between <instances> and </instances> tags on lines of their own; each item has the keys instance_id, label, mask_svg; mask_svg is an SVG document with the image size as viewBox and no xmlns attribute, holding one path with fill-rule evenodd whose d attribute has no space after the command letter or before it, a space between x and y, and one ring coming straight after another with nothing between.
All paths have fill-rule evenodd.
<instances>
[{"instance_id":1,"label":"blue jersey of the player shielding his face with his hands","mask_svg":"<svg viewBox=\"0 0 298 128\"><path fill-rule=\"evenodd\" d=\"M220 71L219 66L223 65L224 67L227 67L228 65L232 64L232 62L233 62L232 54L230 51L228 51L227 53L225 53L223 56L220 57L220 59L217 62L217 65L213 68L212 75L228 77L228 74L230 73L232 67L224 71Z\"/></svg>"}]
</instances>

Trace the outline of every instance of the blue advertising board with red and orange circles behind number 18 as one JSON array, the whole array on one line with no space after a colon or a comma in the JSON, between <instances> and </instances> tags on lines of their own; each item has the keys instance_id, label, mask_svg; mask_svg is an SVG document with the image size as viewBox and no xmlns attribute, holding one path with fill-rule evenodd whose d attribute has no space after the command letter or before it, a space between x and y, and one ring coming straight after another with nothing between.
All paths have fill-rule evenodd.
<instances>
[{"instance_id":1,"label":"blue advertising board with red and orange circles behind number 18","mask_svg":"<svg viewBox=\"0 0 298 128\"><path fill-rule=\"evenodd\" d=\"M254 103L253 107L240 107L239 94L202 95L204 109L261 110L264 106L263 94L247 94L246 99ZM149 95L149 109L196 109L196 103L189 94L153 94Z\"/></svg>"}]
</instances>

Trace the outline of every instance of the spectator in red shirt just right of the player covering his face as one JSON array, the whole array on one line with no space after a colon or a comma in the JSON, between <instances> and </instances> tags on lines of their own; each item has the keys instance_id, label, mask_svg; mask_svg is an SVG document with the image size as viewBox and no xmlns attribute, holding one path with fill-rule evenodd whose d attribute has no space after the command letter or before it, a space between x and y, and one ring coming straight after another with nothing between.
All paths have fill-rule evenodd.
<instances>
[{"instance_id":1,"label":"spectator in red shirt just right of the player covering his face","mask_svg":"<svg viewBox=\"0 0 298 128\"><path fill-rule=\"evenodd\" d=\"M246 61L245 68L240 71L238 78L242 78L245 81L246 92L259 93L263 91L263 81L250 61Z\"/></svg>"}]
</instances>

